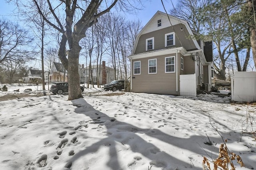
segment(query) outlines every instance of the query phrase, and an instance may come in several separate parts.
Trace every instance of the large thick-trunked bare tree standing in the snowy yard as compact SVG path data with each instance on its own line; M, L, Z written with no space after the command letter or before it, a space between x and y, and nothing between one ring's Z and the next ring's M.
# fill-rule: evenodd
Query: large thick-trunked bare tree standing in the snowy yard
M80 40L85 37L86 30L94 25L100 16L109 12L117 2L123 8L128 9L131 7L130 4L132 4L133 1L92 0L89 2L82 0L61 0L58 1L60 2L58 4L56 1L51 3L50 0L47 0L48 8L50 10L50 15L48 16L45 16L42 12L42 7L38 4L38 0L33 0L33 2L37 6L38 12L43 16L44 20L54 29L57 29L62 33L59 57L60 61L64 64L65 68L67 68L69 73L68 81L70 86L68 89L68 100L82 98L78 72L79 55L81 51L81 47L79 45ZM63 8L65 11L62 10ZM64 24L61 22L60 18L58 18L58 16L60 16L58 12L65 12L66 19ZM67 43L69 49L66 51ZM66 54L68 55L68 58L66 57Z

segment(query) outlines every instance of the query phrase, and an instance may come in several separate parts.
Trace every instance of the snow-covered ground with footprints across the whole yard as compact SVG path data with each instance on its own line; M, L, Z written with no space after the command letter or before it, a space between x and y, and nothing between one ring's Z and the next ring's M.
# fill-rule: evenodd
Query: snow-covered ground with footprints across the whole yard
M31 95L41 92L33 86L10 86L0 96L31 87ZM18 88L20 92L13 92ZM256 141L241 133L255 131L256 106L230 104L228 96L208 94L92 88L83 96L67 101L65 94L48 93L0 102L1 169L148 170L152 165L151 170L201 170L203 156L218 157L222 137L246 166L233 161L236 170L256 169ZM252 125L248 114L254 117Z

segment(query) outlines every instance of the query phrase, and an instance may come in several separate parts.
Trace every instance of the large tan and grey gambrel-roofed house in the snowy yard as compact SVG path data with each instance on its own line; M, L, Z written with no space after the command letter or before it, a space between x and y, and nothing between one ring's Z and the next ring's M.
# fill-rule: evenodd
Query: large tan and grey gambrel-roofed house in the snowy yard
M128 57L131 92L196 96L209 91L212 80L212 41L196 39L188 22L156 14L137 35Z

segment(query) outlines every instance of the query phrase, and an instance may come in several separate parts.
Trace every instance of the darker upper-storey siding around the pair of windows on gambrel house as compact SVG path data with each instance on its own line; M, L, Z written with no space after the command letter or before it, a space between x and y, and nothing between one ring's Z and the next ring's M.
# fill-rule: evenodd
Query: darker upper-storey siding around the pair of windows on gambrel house
M181 27L183 30L180 30ZM165 34L175 32L175 45L164 47L165 46ZM186 29L186 26L183 24L174 25L173 27L166 27L150 33L146 33L140 36L138 44L136 46L134 54L140 54L148 52L146 51L146 39L154 37L154 50L168 49L174 47L184 47L187 51L196 49L196 46L193 40ZM180 43L181 42L181 43Z

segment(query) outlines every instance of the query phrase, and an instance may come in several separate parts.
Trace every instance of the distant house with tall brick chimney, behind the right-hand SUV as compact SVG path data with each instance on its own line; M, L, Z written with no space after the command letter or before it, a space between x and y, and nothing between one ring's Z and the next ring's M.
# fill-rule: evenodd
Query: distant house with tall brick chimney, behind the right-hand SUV
M106 66L105 61L102 61L102 64L98 65L98 68L100 69L98 70L98 72L100 72L99 84L108 84L114 80L114 69ZM87 83L88 80L93 84L97 84L97 65L92 65L92 80L91 77L89 78L89 66L84 67L84 64L82 64L82 67L79 68L79 74L81 84Z

